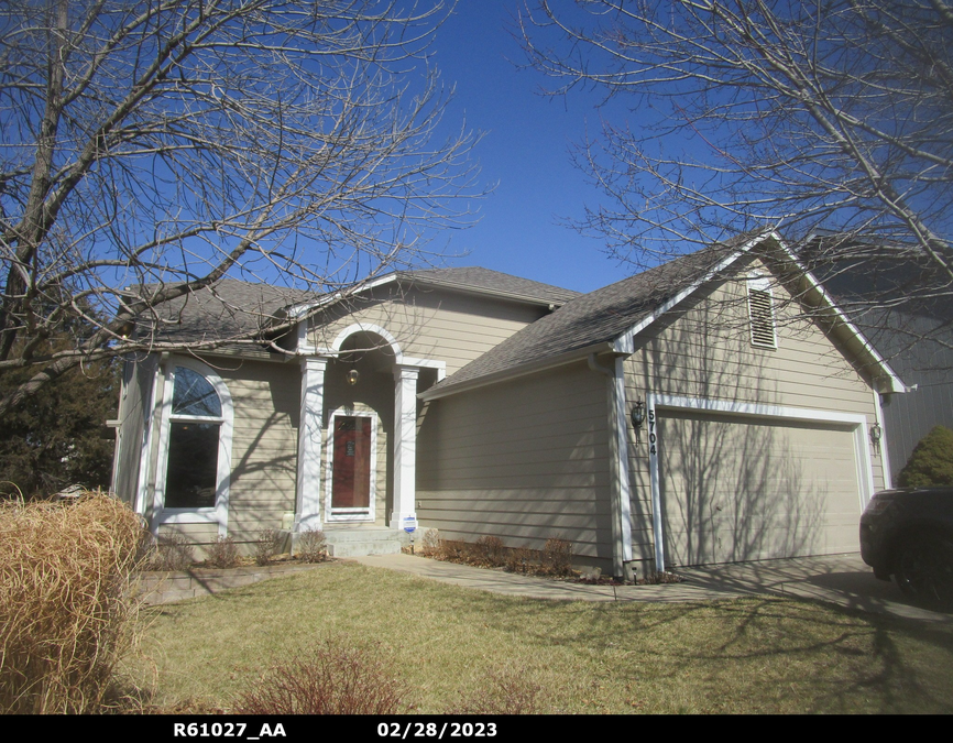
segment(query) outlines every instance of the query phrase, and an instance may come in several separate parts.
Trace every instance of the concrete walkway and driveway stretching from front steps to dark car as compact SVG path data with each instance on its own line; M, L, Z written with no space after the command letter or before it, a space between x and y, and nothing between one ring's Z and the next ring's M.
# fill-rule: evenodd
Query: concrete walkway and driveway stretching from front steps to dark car
M705 568L679 568L681 583L585 586L502 570L472 568L410 555L350 558L362 565L410 572L445 583L532 599L572 601L712 601L773 593L817 599L841 607L903 619L951 623L953 616L905 603L899 589L874 578L859 555L765 560Z

